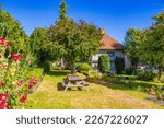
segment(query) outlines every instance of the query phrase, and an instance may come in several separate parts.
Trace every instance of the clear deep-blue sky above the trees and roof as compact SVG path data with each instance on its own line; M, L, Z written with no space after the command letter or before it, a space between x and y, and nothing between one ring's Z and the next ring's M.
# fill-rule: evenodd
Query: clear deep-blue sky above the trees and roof
M50 26L57 20L60 0L0 0L30 35L35 27ZM153 15L164 9L164 0L66 0L68 16L104 27L124 42L129 27L149 27Z

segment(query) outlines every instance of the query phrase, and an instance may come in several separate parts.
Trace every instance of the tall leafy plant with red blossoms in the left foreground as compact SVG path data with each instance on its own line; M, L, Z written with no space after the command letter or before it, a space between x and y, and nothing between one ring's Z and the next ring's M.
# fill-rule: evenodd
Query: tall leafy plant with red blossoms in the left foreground
M10 43L0 37L0 109L15 108L25 103L27 90L36 81L26 77L30 59L21 53L8 55Z

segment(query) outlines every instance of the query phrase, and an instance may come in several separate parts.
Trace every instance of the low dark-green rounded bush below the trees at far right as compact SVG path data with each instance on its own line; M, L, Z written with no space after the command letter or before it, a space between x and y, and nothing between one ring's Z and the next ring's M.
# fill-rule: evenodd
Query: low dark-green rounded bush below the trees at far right
M156 73L152 70L138 72L138 80L152 81L156 77Z

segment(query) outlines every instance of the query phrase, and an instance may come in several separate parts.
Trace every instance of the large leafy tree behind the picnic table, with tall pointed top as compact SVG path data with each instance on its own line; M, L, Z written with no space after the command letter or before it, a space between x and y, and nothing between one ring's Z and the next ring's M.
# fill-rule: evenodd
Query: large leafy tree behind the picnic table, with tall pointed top
M96 54L101 46L102 34L93 24L82 20L77 23L73 19L67 18L63 2L60 4L59 19L48 31L49 48L56 57L67 60L71 72L74 73L77 61L86 61Z

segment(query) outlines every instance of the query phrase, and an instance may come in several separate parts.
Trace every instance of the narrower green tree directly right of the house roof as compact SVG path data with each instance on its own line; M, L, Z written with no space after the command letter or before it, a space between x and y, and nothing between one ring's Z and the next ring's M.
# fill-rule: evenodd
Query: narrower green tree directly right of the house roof
M125 37L125 53L131 62L132 70L137 71L137 65L139 62L142 31L136 28L129 28L126 32Z

